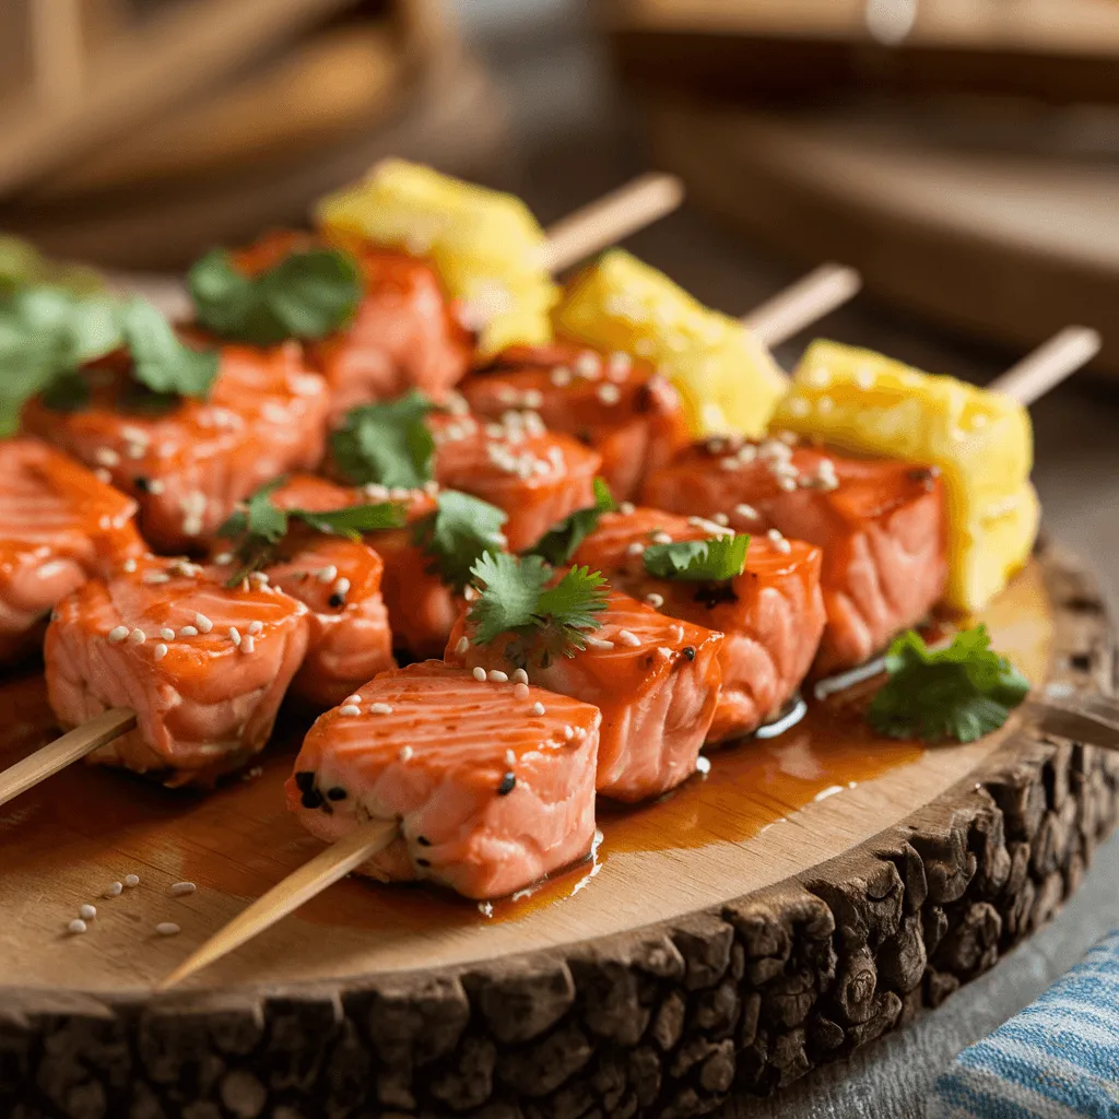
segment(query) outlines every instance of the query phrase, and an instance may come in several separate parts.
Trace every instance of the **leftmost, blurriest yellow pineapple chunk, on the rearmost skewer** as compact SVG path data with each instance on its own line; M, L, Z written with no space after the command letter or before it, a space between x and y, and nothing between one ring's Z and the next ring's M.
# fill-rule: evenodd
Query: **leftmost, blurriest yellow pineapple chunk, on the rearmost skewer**
M321 199L314 217L328 234L429 258L479 330L483 357L552 340L560 290L544 266L544 231L519 198L388 159L363 182Z

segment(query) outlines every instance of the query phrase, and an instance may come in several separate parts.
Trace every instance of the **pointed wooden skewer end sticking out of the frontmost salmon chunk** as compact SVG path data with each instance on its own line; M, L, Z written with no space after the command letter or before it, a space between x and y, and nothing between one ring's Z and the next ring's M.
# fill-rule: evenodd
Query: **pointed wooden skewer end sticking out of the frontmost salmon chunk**
M399 834L395 820L369 820L289 874L190 953L157 990L167 990L270 929L327 886L384 850Z

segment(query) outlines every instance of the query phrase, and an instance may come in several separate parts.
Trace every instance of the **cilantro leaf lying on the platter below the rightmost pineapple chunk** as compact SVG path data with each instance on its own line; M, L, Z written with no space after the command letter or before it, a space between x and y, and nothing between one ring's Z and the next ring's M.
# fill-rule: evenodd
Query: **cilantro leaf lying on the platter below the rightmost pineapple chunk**
M892 739L974 742L997 731L1029 692L1029 681L991 650L984 624L938 652L909 630L890 646L886 671L867 718Z

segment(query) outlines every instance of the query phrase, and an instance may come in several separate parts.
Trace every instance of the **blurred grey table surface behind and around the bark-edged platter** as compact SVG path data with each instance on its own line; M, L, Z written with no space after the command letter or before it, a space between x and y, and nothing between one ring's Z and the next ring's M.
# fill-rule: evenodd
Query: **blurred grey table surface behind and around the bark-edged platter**
M520 194L546 223L648 167L637 106L613 88L577 0L458 0L468 35L506 94L510 159L489 176ZM705 303L743 313L802 269L761 254L687 206L628 247ZM834 314L819 333L884 350L937 373L984 383L1018 355L944 335L869 299ZM779 350L788 367L807 342ZM1119 590L1119 391L1085 377L1034 408L1046 530L1087 557L1108 599ZM963 1046L1040 995L1119 925L1119 836L1099 852L1081 890L1046 929L935 1013L818 1070L772 1100L741 1100L723 1119L875 1119L923 1116L935 1075Z

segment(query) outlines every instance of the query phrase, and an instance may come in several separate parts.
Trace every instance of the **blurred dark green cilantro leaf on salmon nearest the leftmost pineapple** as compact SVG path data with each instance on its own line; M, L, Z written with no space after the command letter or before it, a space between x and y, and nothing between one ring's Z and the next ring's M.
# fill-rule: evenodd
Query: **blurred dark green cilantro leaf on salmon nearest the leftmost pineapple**
M291 253L255 276L215 248L194 264L188 283L201 326L253 346L325 338L352 319L363 292L357 263L332 248Z

